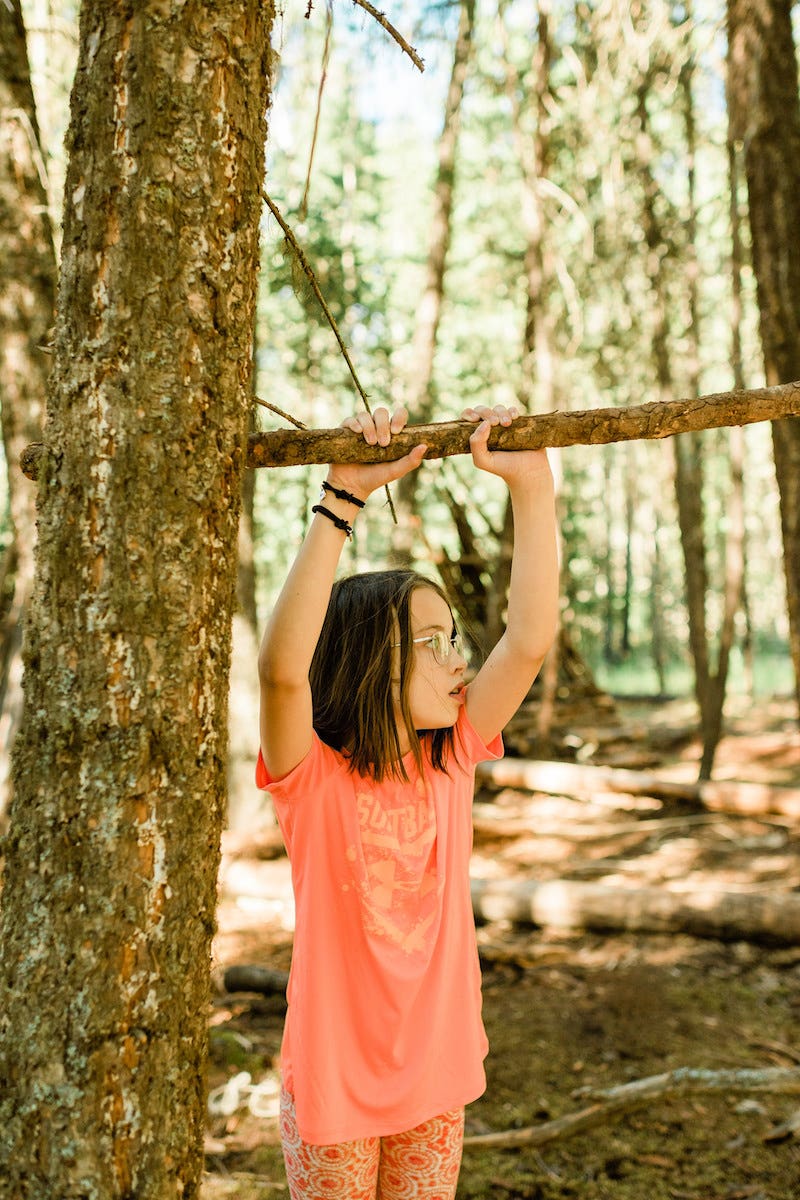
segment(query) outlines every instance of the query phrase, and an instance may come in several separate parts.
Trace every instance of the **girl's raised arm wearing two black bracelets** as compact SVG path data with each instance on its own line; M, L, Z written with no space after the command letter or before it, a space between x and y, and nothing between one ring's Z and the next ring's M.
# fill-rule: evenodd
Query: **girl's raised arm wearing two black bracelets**
M375 409L371 416L360 413L343 427L361 433L371 445L389 445L399 433L408 413L398 408L390 414ZM345 463L331 466L326 482L356 500L366 500L377 488L420 466L425 445L396 462ZM266 769L273 779L288 774L311 748L312 701L308 684L311 661L327 611L347 526L360 509L351 499L326 491L297 552L264 631L258 655L260 683L260 743Z

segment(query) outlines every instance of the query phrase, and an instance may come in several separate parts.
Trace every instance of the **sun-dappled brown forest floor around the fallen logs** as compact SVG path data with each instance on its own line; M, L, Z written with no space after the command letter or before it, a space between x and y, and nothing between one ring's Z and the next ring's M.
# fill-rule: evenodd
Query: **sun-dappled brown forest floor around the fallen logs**
M691 708L676 701L657 708L618 702L602 718L604 733L594 727L596 713L584 712L583 722L579 713L569 714L569 748L593 763L691 780L699 754L684 732L691 720ZM800 786L800 734L788 702L734 708L729 726L715 778ZM509 790L477 799L530 804L528 794ZM492 840L476 834L475 874L800 892L798 821L723 812L697 820L697 808L682 823L673 818L690 815L685 804L626 796L534 803L549 832ZM662 829L658 817L669 818ZM595 836L587 833L593 821ZM648 822L640 833L631 829L638 821ZM581 836L571 835L571 823ZM276 1120L282 1001L225 994L221 984L224 968L236 964L288 970L288 863L240 851L223 859L221 878L209 1080L218 1111L209 1117L203 1200L288 1196ZM481 925L479 943L491 1051L487 1091L467 1110L468 1135L539 1126L585 1108L582 1088L673 1068L800 1063L800 946L503 923ZM651 1099L569 1140L467 1147L458 1196L794 1200L800 1132L771 1133L799 1110L796 1094Z

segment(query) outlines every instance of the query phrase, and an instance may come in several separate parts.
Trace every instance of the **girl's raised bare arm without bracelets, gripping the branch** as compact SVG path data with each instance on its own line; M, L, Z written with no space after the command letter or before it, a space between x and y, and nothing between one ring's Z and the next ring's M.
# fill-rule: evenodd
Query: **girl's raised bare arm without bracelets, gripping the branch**
M491 451L493 425L511 425L515 410L468 408L480 420L470 438L473 461L505 480L513 512L513 558L506 629L467 690L467 712L487 742L511 720L539 674L558 628L559 568L553 475L543 450Z

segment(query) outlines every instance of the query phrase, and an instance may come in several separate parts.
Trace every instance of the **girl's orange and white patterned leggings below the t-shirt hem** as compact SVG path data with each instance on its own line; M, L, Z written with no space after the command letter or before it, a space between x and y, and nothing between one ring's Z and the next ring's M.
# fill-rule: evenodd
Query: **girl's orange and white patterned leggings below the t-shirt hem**
M464 1110L457 1109L390 1138L309 1146L291 1096L281 1096L290 1200L453 1200L463 1139Z

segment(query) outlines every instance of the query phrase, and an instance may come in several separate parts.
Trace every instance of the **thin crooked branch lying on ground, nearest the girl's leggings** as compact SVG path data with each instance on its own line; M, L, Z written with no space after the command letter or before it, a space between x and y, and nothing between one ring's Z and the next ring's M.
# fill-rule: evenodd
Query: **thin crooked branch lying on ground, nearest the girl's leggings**
M555 1121L547 1121L527 1129L506 1129L464 1138L469 1150L510 1150L513 1146L543 1146L558 1139L576 1138L614 1117L643 1108L652 1100L704 1092L770 1092L782 1096L800 1094L800 1067L768 1067L763 1070L694 1070L680 1067L650 1075L631 1084L591 1091L589 1108Z

